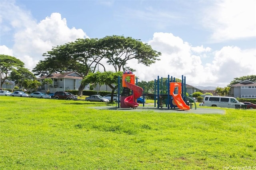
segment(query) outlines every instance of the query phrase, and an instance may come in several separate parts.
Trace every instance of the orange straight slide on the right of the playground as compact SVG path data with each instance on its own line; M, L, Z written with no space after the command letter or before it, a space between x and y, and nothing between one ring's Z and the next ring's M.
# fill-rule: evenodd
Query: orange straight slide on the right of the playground
M174 89L175 87L178 86L178 94L174 94ZM184 100L182 99L181 96L181 83L176 83L176 82L170 82L170 95L172 95L173 100L176 104L176 106L179 107L179 109L182 110L189 110L189 106L186 105L186 103L184 102Z

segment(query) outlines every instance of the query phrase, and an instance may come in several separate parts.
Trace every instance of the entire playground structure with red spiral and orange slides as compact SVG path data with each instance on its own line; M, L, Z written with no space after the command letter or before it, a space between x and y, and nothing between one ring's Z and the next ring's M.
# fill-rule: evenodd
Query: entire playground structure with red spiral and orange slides
M135 75L126 70L122 76L122 87L120 86L120 77L118 78L118 95L120 95L120 88L122 88L122 94L120 101L118 101L118 108L130 108L135 109L139 106L136 99L142 96L154 97L154 107L162 108L167 107L168 109L179 108L182 110L192 109L194 103L195 109L196 104L194 100L186 96L186 77L182 75L182 82L176 82L175 78L170 78L168 75L167 80L159 78L154 83L138 83ZM188 99L188 100L186 100ZM144 107L144 103L143 103Z

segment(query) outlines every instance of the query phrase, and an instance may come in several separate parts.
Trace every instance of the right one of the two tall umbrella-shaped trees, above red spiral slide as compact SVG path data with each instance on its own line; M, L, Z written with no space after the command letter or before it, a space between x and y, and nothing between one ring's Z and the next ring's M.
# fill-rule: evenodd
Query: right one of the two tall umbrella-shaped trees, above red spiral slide
M118 35L106 36L99 40L102 55L107 58L107 63L114 66L117 71L124 71L128 60L137 60L138 63L149 66L159 60L161 55L146 43L132 37Z

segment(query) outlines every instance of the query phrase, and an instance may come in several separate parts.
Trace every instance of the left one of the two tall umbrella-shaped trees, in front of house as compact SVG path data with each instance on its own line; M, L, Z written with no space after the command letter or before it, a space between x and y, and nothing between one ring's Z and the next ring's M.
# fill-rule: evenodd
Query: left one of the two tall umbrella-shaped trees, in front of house
M44 53L47 57L40 61L32 70L36 75L44 76L50 73L76 71L83 78L94 72L103 59L102 52L99 52L98 39L77 39L64 45L53 47L52 51ZM105 68L104 68L105 70ZM78 88L78 95L86 85L81 84Z

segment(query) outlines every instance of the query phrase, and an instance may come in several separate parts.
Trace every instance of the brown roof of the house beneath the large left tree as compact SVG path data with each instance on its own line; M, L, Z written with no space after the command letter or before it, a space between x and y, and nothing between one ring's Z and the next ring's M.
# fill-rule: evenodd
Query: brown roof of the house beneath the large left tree
M80 79L80 80L83 79L82 76L77 72L51 73L51 74L48 74L47 76L42 76L37 79L40 80L40 79L46 79L46 78L69 78L69 79Z

